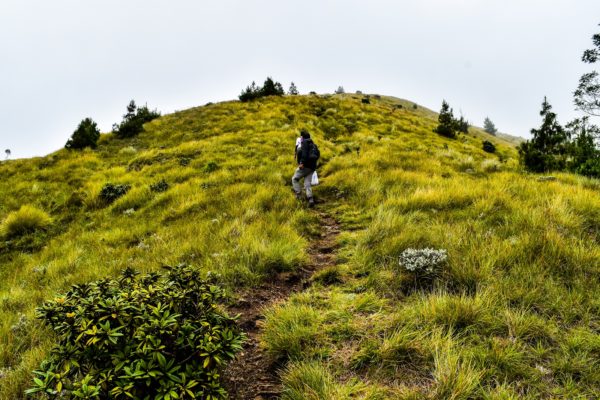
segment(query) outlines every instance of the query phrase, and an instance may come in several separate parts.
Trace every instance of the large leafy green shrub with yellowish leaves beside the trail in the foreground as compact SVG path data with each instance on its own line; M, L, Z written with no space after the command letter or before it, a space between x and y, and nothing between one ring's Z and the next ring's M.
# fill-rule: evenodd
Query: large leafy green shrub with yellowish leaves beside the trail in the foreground
M75 285L37 309L57 335L28 394L68 398L224 398L220 371L244 339L218 286L179 265ZM151 397L149 397L151 395Z

